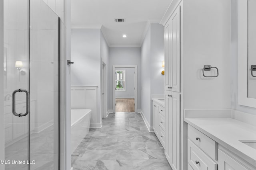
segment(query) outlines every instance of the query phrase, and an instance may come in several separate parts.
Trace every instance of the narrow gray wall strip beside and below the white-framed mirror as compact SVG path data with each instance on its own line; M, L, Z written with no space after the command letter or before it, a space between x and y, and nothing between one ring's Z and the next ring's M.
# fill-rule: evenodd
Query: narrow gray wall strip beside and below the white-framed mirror
M238 104L238 0L231 1L231 107L256 115L256 108Z

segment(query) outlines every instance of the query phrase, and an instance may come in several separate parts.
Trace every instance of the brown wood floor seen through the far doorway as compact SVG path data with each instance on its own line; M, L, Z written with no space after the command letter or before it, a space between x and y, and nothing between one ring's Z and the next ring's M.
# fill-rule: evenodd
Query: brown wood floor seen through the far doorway
M116 99L116 112L135 112L134 99Z

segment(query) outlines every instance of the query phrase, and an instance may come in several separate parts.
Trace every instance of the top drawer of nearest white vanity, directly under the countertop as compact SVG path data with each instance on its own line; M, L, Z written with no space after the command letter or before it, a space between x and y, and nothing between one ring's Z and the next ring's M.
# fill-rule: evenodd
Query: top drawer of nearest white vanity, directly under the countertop
M217 143L214 140L190 125L188 125L188 139L194 142L212 159L217 160Z

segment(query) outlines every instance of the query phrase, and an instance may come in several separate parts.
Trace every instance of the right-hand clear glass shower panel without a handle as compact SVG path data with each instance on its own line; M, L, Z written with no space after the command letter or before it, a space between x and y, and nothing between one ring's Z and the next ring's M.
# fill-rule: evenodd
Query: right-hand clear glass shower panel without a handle
M30 0L30 170L58 170L59 18Z

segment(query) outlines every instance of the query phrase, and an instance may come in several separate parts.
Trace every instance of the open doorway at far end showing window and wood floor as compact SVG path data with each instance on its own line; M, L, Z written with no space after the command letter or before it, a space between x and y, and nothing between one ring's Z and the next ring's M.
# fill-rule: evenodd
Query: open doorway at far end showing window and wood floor
M137 112L137 66L113 66L114 112Z

